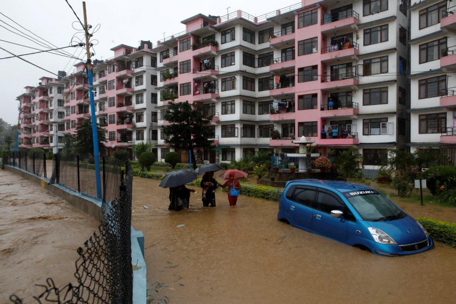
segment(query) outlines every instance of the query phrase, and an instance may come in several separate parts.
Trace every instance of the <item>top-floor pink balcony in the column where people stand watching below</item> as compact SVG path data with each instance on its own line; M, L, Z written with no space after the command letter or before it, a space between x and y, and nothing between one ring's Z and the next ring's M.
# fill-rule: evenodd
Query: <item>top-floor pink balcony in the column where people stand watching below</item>
M321 32L346 32L349 30L359 31L359 23L359 14L355 11L324 14Z

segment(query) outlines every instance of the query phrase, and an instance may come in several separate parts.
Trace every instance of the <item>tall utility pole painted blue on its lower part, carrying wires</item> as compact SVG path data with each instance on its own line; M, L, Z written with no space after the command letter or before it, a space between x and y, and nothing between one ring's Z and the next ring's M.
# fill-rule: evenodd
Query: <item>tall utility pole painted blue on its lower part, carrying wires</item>
M95 158L95 181L97 184L97 198L101 199L101 176L100 176L100 153L98 151L98 132L97 119L95 117L95 101L93 97L93 79L92 79L92 60L90 60L90 44L89 30L87 27L86 2L83 1L84 9L84 32L86 34L86 50L87 50L87 72L89 78L89 96L90 96L90 111L92 116L92 137L93 137L93 156Z

